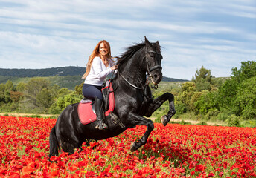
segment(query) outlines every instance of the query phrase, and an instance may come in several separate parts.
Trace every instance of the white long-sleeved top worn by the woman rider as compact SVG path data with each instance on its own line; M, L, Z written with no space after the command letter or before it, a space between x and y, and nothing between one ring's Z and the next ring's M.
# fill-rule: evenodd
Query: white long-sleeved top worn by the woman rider
M106 76L112 72L112 66L116 65L112 60L109 61L109 66L106 67L100 57L95 57L92 61L91 70L86 77L84 83L89 85L101 86L106 79Z

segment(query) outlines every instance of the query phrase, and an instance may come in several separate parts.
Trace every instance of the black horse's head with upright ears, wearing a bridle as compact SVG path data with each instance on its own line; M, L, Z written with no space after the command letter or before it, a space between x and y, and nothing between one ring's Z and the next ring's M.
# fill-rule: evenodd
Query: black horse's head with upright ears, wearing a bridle
M161 47L159 41L150 43L145 36L145 54L147 63L147 73L151 78L151 82L157 85L162 79L161 73Z

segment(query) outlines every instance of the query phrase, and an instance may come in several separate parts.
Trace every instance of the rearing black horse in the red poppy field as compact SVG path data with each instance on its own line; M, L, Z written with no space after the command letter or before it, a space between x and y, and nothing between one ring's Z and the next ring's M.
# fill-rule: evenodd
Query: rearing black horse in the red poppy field
M78 103L69 105L60 113L56 125L51 129L49 157L58 156L60 148L73 154L74 148L81 148L83 142L87 140L117 136L127 128L133 128L136 125L146 125L147 131L138 142L133 142L130 150L135 151L145 145L148 136L153 131L154 124L152 120L143 116L150 117L167 100L170 108L167 115L161 116L162 124L167 125L175 114L173 94L164 93L153 99L150 87L147 85L153 82L156 86L161 81L161 59L159 42L150 43L146 36L144 42L128 47L127 51L118 57L118 73L112 79L115 89L113 113L124 127L113 123L111 117L105 120L109 126L108 130L95 129L96 122L83 125L78 118Z

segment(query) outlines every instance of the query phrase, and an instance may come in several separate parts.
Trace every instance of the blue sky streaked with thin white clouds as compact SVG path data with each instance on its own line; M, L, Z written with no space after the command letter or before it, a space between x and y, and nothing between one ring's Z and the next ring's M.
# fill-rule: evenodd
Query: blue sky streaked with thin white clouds
M163 76L215 77L256 61L255 0L0 0L0 68L85 67L105 39L112 56L159 41Z

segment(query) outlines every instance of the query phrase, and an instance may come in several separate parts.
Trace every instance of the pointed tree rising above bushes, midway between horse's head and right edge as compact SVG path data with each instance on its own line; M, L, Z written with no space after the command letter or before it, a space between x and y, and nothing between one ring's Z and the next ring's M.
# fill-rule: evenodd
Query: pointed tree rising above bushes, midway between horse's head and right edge
M211 70L205 69L203 66L200 70L196 70L195 77L192 78L192 82L196 84L196 90L211 90L213 83L211 81Z

